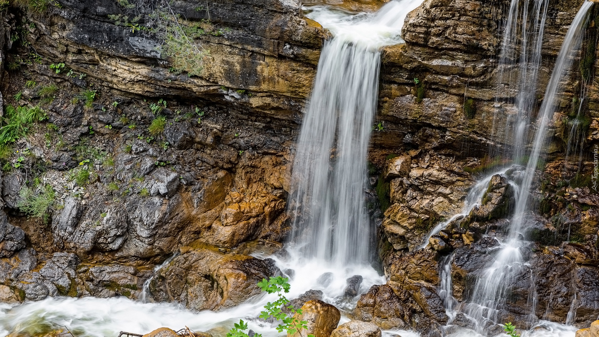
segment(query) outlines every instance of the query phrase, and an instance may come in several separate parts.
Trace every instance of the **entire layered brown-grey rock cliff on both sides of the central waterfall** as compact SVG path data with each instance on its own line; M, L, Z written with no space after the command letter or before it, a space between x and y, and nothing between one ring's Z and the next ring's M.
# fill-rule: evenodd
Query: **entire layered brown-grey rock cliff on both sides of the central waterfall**
M552 2L539 100L581 3ZM116 25L114 16L128 13L125 2L57 4L0 11L6 69L0 103L4 97L5 106L40 104L47 114L47 121L27 126L28 137L2 150L2 300L137 298L155 264L176 252L150 282L152 299L193 309L247 299L256 279L279 272L249 254L280 249L289 230L289 163L327 32L302 18L293 0L177 1L181 24L196 28L205 50L198 76L187 76L174 69L177 60L156 35ZM381 4L343 2L354 10ZM379 176L372 189L384 213L379 250L389 282L361 296L360 320L382 329L436 329L447 323L438 295L441 257L454 254L458 299L492 260L497 241L483 234L502 235L513 203L501 177L492 180L485 205L461 222L467 225L449 224L428 248L415 248L439 221L459 213L468 188L500 163L486 156L488 149L510 149L506 130L492 121L495 112L515 111L515 93L496 90L508 7L425 0L406 20L406 44L383 51L377 116L383 128L373 131L370 161ZM520 295L533 285L537 317L564 321L574 293L580 324L597 315L592 164L584 157L578 170L563 155L562 121L580 76L573 78L536 186L540 212L530 219L536 243L526 252L533 276L510 285L506 321L526 314ZM588 95L586 149L599 137L596 82ZM562 244L568 235L570 243ZM544 312L548 305L553 311Z

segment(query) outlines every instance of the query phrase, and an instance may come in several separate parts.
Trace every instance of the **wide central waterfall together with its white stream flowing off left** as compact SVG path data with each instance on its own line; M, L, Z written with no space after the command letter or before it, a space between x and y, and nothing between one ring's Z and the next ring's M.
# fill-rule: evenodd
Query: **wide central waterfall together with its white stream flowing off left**
M386 281L370 265L372 224L364 204L379 49L403 42L400 36L404 19L421 3L393 0L378 13L355 15L316 6L306 14L328 28L334 38L323 46L298 141L293 173L297 189L291 206L296 213L294 241L287 247L288 258L273 257L280 270L293 269L295 275L301 275L291 278L288 298L310 289L322 290L325 302L352 309L358 297L344 296L346 278L362 276L359 293ZM147 295L149 281L146 285ZM100 337L116 336L120 330L148 332L160 326L188 326L220 336L243 318L250 329L263 336L278 336L273 324L258 320L264 305L274 300L276 294L262 294L235 308L190 312L171 303L143 303L147 302L145 295L140 302L124 297L48 298L13 308L6 305L0 314L0 327L16 332L25 331L31 322L49 326L57 323L68 325L80 336ZM127 312L126 318L123 312ZM341 323L347 320L342 317Z

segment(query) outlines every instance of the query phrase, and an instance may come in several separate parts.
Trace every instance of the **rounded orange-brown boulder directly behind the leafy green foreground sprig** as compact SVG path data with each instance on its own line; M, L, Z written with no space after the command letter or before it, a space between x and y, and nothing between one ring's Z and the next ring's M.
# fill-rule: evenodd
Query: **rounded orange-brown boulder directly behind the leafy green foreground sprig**
M307 333L304 331L298 331L293 335L288 333L288 337L301 337L307 334L314 335L314 337L329 337L341 319L339 309L321 300L305 302L301 309L302 314L295 314L294 318L308 322Z

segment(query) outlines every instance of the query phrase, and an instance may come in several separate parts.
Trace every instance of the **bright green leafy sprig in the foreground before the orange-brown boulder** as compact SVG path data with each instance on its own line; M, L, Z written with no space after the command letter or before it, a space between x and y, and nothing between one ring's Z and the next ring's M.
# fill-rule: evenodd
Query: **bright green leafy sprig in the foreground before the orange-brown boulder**
M291 287L288 283L288 278L283 278L282 276L271 277L270 279L263 278L262 281L258 282L258 287L262 288L262 291L266 291L269 294L277 293L279 299L274 302L268 302L267 305L264 306L265 311L260 313L260 318L264 320L268 320L270 318L275 318L276 320L282 321L282 324L277 326L278 332L283 332L285 330L288 335L293 335L296 332L299 332L301 335L302 329L307 329L308 322L300 321L296 317L295 314L301 315L302 309L295 309L293 305L289 305L289 300L283 295L282 292L289 293L289 288ZM283 306L289 309L289 314L282 310ZM247 329L247 323L244 323L243 320L239 321L239 324L235 324L234 328L227 333L227 337L248 337L247 333L244 330ZM261 337L258 333L254 335L254 337ZM314 337L314 335L308 334L307 337Z

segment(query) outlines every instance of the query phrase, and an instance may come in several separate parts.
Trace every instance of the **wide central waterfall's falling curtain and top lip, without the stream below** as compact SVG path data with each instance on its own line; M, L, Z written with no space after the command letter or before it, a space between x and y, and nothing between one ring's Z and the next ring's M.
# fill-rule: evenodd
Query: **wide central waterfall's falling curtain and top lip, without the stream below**
M367 152L379 89L380 47L422 1L391 1L376 14L313 8L307 16L334 34L323 45L292 171L291 242L332 264L368 264L373 224L365 207Z

